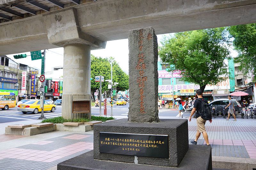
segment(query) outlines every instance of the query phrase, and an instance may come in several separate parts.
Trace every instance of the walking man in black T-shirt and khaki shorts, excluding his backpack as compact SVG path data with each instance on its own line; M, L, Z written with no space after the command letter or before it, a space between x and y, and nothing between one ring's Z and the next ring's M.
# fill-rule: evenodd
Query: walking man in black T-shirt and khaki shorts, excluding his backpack
M191 118L192 116L194 115L194 113L196 112L196 125L197 125L197 128L196 128L196 138L195 140L192 140L190 141L190 143L192 144L197 144L197 140L198 138L200 137L201 133L203 134L203 137L204 137L204 140L205 140L205 143L206 145L210 145L209 143L209 140L208 140L208 135L206 133L206 130L205 130L205 123L206 123L206 120L204 120L201 115L200 115L200 109L202 107L202 101L204 101L204 98L203 98L203 91L201 89L198 89L196 91L196 95L197 95L197 98L194 102L194 107L191 111L191 114L188 118L189 122L191 121ZM212 123L212 119L209 120L210 123Z

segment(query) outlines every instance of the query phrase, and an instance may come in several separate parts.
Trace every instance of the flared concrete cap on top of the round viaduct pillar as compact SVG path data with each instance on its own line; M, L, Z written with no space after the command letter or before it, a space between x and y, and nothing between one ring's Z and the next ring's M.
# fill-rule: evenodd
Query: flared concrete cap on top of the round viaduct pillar
M91 49L106 47L101 41L80 30L75 8L44 15L49 43L64 47L67 44L85 44Z

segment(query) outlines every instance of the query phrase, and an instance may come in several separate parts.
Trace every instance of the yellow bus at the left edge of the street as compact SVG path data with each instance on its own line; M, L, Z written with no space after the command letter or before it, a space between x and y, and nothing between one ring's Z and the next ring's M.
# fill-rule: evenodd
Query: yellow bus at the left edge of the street
M0 108L8 110L10 107L16 106L15 94L11 92L0 92Z

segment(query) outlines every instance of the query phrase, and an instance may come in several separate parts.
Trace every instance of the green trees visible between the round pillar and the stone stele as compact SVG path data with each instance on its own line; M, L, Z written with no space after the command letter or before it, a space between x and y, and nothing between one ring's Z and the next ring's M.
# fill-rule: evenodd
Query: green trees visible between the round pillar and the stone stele
M101 57L95 57L91 55L91 95L93 101L94 95L93 93L100 89L100 82L95 82L95 76L104 76L104 79L111 79L111 65L110 65L110 59L113 60L112 66L113 66L113 83L118 82L117 85L117 92L118 91L124 91L129 89L129 76L120 68L118 63L114 60L114 58L101 58ZM107 91L107 96L110 94L110 90L108 89L108 82L104 81L101 83L102 92Z

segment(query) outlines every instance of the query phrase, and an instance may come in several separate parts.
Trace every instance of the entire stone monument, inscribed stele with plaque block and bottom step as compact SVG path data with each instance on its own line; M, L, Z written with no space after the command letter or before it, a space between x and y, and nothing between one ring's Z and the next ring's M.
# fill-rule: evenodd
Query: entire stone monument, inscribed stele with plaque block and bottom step
M128 39L128 119L94 125L94 150L58 169L212 169L211 147L188 145L187 119L159 120L154 29L130 30Z

